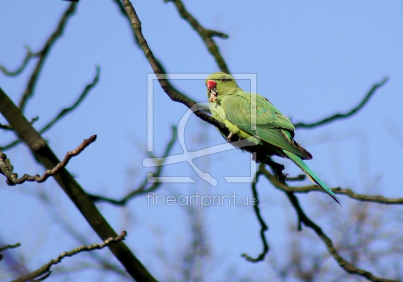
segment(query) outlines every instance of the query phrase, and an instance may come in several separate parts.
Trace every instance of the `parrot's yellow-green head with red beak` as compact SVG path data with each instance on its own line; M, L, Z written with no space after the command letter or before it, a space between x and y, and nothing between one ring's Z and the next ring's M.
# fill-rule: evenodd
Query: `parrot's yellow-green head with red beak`
M225 73L215 73L206 79L207 97L210 102L217 100L217 97L230 95L236 89L237 85L233 77Z

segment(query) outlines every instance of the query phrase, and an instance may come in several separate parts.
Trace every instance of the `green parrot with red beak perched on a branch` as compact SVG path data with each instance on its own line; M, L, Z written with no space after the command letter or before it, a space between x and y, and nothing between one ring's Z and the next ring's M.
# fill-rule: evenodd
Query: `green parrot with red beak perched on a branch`
M251 136L260 137L258 145L240 149L256 153L256 162L273 163L270 159L273 155L290 159L340 204L329 187L304 163L303 160L312 159L312 155L295 142L294 125L266 98L244 92L237 86L234 78L225 73L210 75L206 86L213 117L224 122L230 132L228 136L224 136L228 142ZM251 97L256 97L255 130L251 127Z

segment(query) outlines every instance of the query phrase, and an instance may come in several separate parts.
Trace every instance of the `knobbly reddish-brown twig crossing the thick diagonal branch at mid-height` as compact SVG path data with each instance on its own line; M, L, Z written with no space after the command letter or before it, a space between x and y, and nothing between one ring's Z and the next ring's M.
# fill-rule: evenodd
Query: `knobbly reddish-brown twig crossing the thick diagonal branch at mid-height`
M7 184L10 186L22 184L25 181L37 183L45 182L49 176L53 176L58 173L60 169L64 168L69 163L71 158L83 152L84 149L87 148L91 143L95 142L96 139L97 135L92 135L90 138L85 139L76 150L68 152L63 161L58 163L53 169L46 170L42 176L39 176L39 174L34 176L25 174L23 177L18 178L18 174L13 173L13 166L11 165L10 160L7 158L6 154L3 154L3 152L0 151L0 173L7 177Z

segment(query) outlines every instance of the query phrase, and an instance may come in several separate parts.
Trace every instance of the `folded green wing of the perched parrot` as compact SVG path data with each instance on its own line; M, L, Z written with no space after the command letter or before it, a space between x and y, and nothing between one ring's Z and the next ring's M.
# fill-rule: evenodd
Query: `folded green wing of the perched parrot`
M256 94L256 131L251 130L250 99L251 94L243 91L222 97L220 102L227 119L243 131L257 135L269 144L302 158L311 159L305 150L295 145L293 140L295 128L291 121L266 98L258 94Z

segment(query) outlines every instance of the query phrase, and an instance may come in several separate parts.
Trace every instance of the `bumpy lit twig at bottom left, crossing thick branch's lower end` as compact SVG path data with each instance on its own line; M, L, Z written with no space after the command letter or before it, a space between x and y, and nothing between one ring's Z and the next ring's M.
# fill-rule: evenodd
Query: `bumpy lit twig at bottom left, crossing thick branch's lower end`
M49 261L48 263L46 263L45 265L43 265L41 268L35 270L34 272L18 278L12 282L25 282L25 281L43 281L44 279L46 279L47 277L50 276L50 274L52 273L52 271L50 270L50 268L61 262L61 260L65 257L72 257L74 255L77 255L81 252L90 252L93 250L101 250L103 248L105 248L106 246L109 246L110 244L114 244L114 243L118 243L122 240L124 240L124 238L127 236L127 232L126 231L122 231L122 233L115 237L115 238L109 238L106 239L102 244L93 244L90 246L80 246L72 251L69 252L63 252L61 253L56 259L52 259L51 261Z

